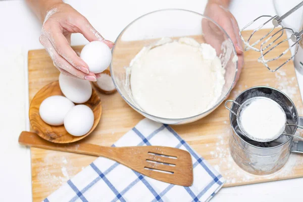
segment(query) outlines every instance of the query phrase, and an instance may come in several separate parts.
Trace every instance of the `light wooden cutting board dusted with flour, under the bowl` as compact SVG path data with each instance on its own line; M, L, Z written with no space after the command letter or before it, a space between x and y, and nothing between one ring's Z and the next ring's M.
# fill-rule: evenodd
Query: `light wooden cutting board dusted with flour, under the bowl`
M268 30L259 31L256 37L261 38L265 32ZM245 31L243 35L249 33L249 31ZM287 43L281 44L275 49L275 52L282 53L287 45ZM76 52L80 52L81 48L82 46L74 47ZM128 51L130 50L128 49ZM254 51L245 52L245 64L240 80L229 98L235 98L241 91L252 86L272 86L290 96L299 114L303 115L303 105L293 63L289 62L280 71L272 73L257 62L259 54ZM289 57L288 52L274 63L275 65L281 64ZM35 93L44 85L58 80L58 75L58 70L43 49L29 51L29 100L31 101ZM89 143L110 146L143 119L143 116L130 108L119 93L99 95L103 107L102 118L95 131L85 140ZM280 171L272 175L256 176L241 170L233 162L229 153L228 141L231 129L228 115L229 112L222 104L204 119L187 125L172 126L197 153L227 179L225 187L303 176L303 155L295 154L291 155L287 164ZM33 201L43 200L95 159L95 157L85 155L31 148Z

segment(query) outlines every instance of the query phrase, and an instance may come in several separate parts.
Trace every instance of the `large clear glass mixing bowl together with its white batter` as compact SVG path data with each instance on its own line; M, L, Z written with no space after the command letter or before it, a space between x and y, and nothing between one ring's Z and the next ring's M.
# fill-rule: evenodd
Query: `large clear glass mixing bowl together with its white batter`
M118 36L110 65L122 98L143 116L185 124L214 111L237 73L234 45L211 19L186 10L146 14Z

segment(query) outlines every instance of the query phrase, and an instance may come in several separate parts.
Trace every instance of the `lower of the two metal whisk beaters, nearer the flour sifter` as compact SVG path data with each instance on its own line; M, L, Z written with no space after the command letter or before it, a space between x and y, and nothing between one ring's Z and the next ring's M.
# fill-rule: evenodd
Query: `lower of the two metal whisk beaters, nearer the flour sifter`
M291 31L291 33L292 33L291 36L286 38L286 39L283 39L281 41L278 41L278 39L283 35L284 30ZM280 32L282 33L281 35L279 35ZM272 38L275 37L275 35L278 35L278 37L276 39L274 39L272 42L268 43ZM288 58L284 63L282 63L278 67L272 69L272 68L269 67L268 62L275 61L275 60L281 58L283 55L285 55L289 51L289 49L291 49L293 46L295 46L297 43L299 43L299 41L301 40L302 35L303 35L303 30L301 30L300 32L294 32L292 29L287 28L287 27L284 27L284 28L280 29L279 31L277 31L276 33L274 33L272 36L268 37L265 41L263 41L261 43L261 46L260 46L261 57L258 59L258 62L263 63L265 65L265 67L267 67L267 69L269 69L271 72L277 71L278 69L280 69L283 65L285 65L288 61L290 61L296 55L296 53L298 52L298 47L299 46L297 45L296 48L295 48L295 51L291 55L291 57ZM269 54L275 47L277 47L278 45L280 45L283 42L288 43L289 41L291 41L292 44L288 48L286 48L286 50L283 51L283 53L281 53L278 56L273 56L272 58L269 57L270 59L265 59L266 55ZM267 44L267 45L265 45L265 44ZM269 47L270 47L270 49L267 50L267 48L269 48Z

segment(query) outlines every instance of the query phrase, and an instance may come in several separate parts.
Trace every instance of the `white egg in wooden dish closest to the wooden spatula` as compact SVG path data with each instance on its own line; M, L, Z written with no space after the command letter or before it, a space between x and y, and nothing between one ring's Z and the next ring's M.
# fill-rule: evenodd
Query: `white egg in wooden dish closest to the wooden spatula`
M92 110L86 105L76 105L64 118L64 127L74 136L85 135L90 131L94 121Z

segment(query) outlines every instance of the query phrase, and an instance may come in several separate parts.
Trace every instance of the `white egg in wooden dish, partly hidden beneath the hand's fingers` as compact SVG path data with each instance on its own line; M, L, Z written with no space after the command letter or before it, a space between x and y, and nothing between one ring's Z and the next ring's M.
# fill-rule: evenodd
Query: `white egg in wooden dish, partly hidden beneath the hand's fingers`
M63 94L73 103L85 103L91 96L92 88L89 81L60 74L59 85Z

